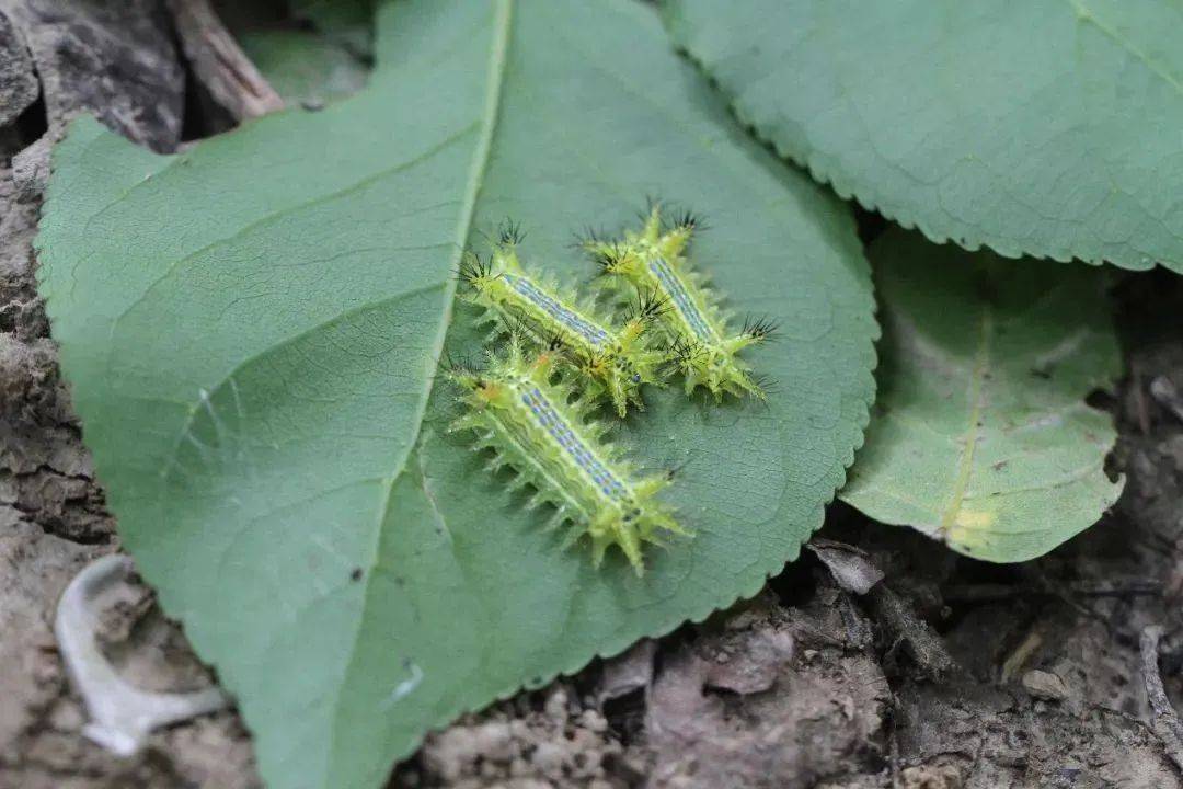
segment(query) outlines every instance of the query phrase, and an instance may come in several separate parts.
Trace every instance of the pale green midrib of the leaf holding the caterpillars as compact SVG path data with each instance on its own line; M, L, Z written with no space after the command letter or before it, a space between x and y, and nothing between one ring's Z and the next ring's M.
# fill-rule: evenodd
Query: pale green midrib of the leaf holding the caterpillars
M455 253L450 265L450 270L458 267L460 258L464 254L465 246L468 240L468 235L472 232L473 215L476 214L477 200L480 196L480 189L484 185L485 174L489 169L489 157L492 150L493 135L497 128L497 119L500 114L502 106L502 90L505 83L505 64L506 53L509 51L510 41L510 27L512 21L513 0L496 0L496 9L493 12L493 31L492 41L489 54L489 82L485 88L485 105L481 111L480 124L481 131L480 137L477 141L477 147L473 151L472 169L468 175L467 190L465 193L464 207L461 208L459 221L457 222L457 235L455 235ZM437 326L435 339L432 343L432 349L429 354L431 369L434 370L439 366L440 353L444 349L444 342L447 337L448 328L452 324L452 309L455 302L455 289L457 278L450 277L445 291L442 295L444 309L440 313L440 322ZM403 474L407 468L407 460L413 452L419 452L419 441L422 434L424 418L427 413L427 403L431 399L432 388L435 383L435 376L428 374L427 380L424 384L424 390L419 400L419 405L415 410L414 416L414 433L412 440L407 442L407 451L402 455L401 460L396 463L395 468L390 473L389 478L384 481L384 491L382 494L382 505L379 509L379 517L376 529L374 530L374 545L370 551L369 567L364 574L364 587L361 590L362 594L362 607L357 615L357 626L354 630L353 642L349 646L349 658L345 661L345 670L341 674L341 681L334 690L334 718L337 719L341 716L341 691L343 690L345 681L353 673L353 666L357 657L357 646L361 641L363 633L363 625L366 622L366 613L370 601L371 583L374 577L374 568L377 564L379 548L382 541L383 524L387 520L390 510L390 503L394 498L394 489L399 478ZM328 752L328 758L325 763L324 778L327 780L329 775L332 774L332 761L334 755L337 752L337 733L341 731L341 726L334 725L331 741ZM322 784L323 785L323 784Z

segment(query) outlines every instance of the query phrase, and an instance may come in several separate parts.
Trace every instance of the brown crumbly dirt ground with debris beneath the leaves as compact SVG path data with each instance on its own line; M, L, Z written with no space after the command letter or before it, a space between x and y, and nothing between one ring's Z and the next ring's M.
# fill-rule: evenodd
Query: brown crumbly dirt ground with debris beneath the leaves
M118 537L33 285L46 153L79 110L160 150L225 125L172 25L156 0L0 0L0 789L259 785L233 712L125 761L83 738L51 629ZM883 226L861 219L868 238ZM1183 279L1116 279L1129 376L1095 401L1127 484L1097 526L997 567L834 505L833 542L755 600L460 720L390 785L1183 787L1179 730L1146 690L1161 674L1183 701ZM146 687L203 681L147 589L102 635Z

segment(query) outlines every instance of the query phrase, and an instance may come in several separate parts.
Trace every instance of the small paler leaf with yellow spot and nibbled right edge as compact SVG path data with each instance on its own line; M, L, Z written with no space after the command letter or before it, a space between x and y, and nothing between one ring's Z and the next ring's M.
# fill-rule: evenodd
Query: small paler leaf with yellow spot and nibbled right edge
M1100 518L1117 439L1085 403L1120 374L1103 272L891 231L879 399L843 500L968 556L1019 562Z

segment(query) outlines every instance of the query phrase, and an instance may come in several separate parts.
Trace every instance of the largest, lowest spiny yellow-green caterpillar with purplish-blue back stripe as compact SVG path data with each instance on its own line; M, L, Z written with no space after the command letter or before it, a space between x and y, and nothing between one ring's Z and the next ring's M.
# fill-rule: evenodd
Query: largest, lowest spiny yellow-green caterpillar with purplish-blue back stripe
M596 567L615 544L641 575L644 543L660 544L662 531L685 533L655 498L670 477L634 477L632 465L602 440L607 428L587 421L587 399L571 402L569 384L551 383L556 362L550 350L528 360L515 334L509 353L490 355L486 370L450 370L470 407L451 432L474 431L474 448L497 453L490 471L509 465L517 472L511 487L532 485L531 507L543 502L557 507L551 528L564 522L575 526L568 544L587 532Z

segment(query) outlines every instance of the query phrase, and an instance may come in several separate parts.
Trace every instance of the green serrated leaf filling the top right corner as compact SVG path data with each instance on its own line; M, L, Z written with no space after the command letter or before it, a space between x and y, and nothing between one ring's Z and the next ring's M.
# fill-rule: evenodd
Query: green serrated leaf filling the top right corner
M933 240L1183 272L1183 6L672 0L739 116Z

